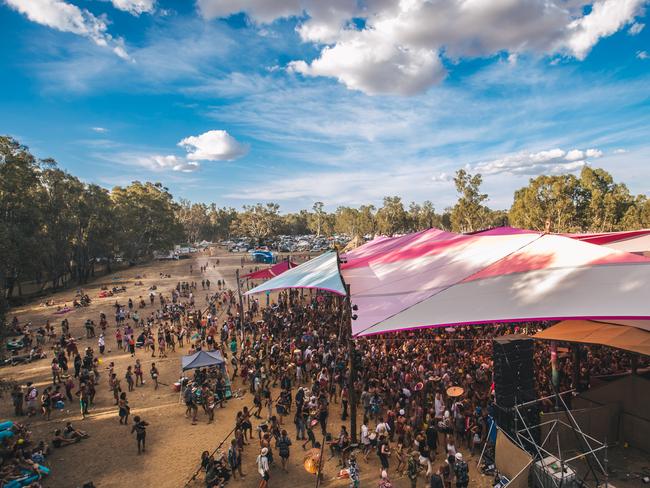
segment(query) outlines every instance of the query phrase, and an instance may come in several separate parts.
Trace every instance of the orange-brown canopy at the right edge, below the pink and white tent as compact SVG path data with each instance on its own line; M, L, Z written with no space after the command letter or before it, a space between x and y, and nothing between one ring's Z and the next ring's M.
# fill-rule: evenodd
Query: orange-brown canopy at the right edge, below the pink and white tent
M642 325L647 329L592 320L564 320L538 332L534 338L598 344L650 356L650 322Z

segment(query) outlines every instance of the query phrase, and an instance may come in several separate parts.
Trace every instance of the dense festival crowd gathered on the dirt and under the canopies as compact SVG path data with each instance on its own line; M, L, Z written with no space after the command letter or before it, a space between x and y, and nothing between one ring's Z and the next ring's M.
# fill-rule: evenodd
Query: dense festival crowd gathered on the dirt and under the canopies
M208 263L200 266L200 273L208 267ZM199 286L208 292L201 306L196 300ZM119 424L131 425L138 454L145 453L149 424L140 416L129 421L129 395L164 383L155 362L145 371L144 359L164 359L176 351L219 350L227 372L223 367L200 368L179 381L185 415L192 424L198 423L199 412L212 423L215 411L229 397L248 395L232 432L223 440L227 448L203 453L201 471L208 488L246 476L244 459L250 458L246 451L254 451L254 471L260 487L266 488L275 471L289 469L288 460L296 450L305 465L313 466L317 460L320 467L336 460L340 476L352 487L360 486L362 473L374 472L370 478L381 488L389 488L391 478L398 477L408 479L412 487L465 488L470 482L469 459L494 440L492 339L547 325L494 324L357 339L352 358L356 380L351 382L349 331L339 297L283 291L268 306L248 299L240 308L225 281L219 279L210 287L209 279L202 277L198 283L178 282L169 296L152 289L148 300L115 301L112 324L103 313L97 325L86 321L86 338L97 345L81 352L67 319L61 321L60 333L49 322L35 329L15 319L12 327L23 333L26 343L51 341L53 352L52 385L42 391L30 383L16 385L11 395L15 415L50 419L56 410L78 402L85 418L106 376L103 387L111 391ZM109 329L116 350L132 358L126 367L104 364L112 350ZM630 368L629 357L611 349L585 348L584 355L582 388L593 376ZM549 356L547 346L536 343L540 396L551 392ZM569 354L560 355L558 370L561 391L576 386ZM357 432L348 427L353 399ZM541 406L553 408L552 402ZM54 432L52 445L61 448L85 436L66 426ZM16 448L16 443L3 439L2 448L17 460L14 474L27 469L33 452L25 452L25 441Z

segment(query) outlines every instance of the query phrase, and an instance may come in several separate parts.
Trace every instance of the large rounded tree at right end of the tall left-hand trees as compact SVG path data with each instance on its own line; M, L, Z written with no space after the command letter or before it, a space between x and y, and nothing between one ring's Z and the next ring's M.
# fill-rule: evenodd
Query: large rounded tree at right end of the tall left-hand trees
M177 204L160 183L134 181L111 192L115 206L118 251L137 261L154 251L169 250L183 236Z

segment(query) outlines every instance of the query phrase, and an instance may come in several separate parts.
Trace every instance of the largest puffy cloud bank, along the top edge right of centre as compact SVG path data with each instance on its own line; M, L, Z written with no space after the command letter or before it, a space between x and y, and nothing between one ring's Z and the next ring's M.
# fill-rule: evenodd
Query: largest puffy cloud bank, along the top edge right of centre
M642 13L645 0L198 0L206 18L245 12L253 22L299 18L305 42L321 47L290 71L336 78L369 95L413 95L439 83L452 61L507 53L584 59L598 41ZM590 6L591 9L584 7ZM632 24L630 32L640 32Z

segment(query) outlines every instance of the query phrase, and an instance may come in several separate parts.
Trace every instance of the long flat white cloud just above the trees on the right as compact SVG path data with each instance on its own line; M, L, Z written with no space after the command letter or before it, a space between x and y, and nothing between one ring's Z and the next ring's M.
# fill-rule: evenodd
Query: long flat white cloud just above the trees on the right
M560 148L539 152L519 152L492 161L484 161L469 169L483 175L509 173L513 175L560 174L575 171L588 163L589 159L602 157L599 149Z

